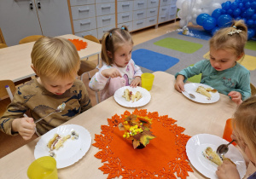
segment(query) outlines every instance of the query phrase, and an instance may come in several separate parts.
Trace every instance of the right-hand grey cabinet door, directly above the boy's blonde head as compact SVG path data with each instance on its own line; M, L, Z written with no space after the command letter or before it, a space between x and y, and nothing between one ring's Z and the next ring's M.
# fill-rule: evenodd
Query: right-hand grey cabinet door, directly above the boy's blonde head
M72 34L67 0L34 1L44 36L55 37Z

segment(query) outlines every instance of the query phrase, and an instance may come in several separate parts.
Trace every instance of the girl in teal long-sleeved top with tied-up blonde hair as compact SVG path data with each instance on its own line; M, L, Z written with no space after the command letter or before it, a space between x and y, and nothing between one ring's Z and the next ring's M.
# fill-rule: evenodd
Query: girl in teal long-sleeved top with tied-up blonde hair
M210 60L189 66L175 75L175 89L184 90L184 82L201 73L201 84L207 84L240 104L251 96L250 72L236 61L244 57L247 26L242 20L216 32L210 40Z

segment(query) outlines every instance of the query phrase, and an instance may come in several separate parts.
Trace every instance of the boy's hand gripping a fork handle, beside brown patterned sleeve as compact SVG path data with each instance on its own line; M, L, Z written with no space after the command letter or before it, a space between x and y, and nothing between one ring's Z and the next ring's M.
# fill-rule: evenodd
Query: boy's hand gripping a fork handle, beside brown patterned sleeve
M12 131L19 132L23 139L29 140L35 133L36 124L33 118L15 118L12 122Z

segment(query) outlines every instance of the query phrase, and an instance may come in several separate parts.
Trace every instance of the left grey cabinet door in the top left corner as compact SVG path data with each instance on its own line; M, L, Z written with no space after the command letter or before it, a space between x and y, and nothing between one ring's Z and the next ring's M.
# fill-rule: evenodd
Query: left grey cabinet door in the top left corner
M0 27L7 45L19 44L21 38L42 35L34 2L0 0Z

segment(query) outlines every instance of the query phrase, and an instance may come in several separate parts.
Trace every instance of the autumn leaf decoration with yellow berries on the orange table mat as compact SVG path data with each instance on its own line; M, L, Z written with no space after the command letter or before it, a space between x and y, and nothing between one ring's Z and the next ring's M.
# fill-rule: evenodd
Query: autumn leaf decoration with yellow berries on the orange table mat
M148 116L141 117L131 114L127 116L122 123L119 123L119 130L125 130L123 137L132 140L134 149L141 144L146 147L149 140L155 138L150 131L151 124L152 119L148 118Z

